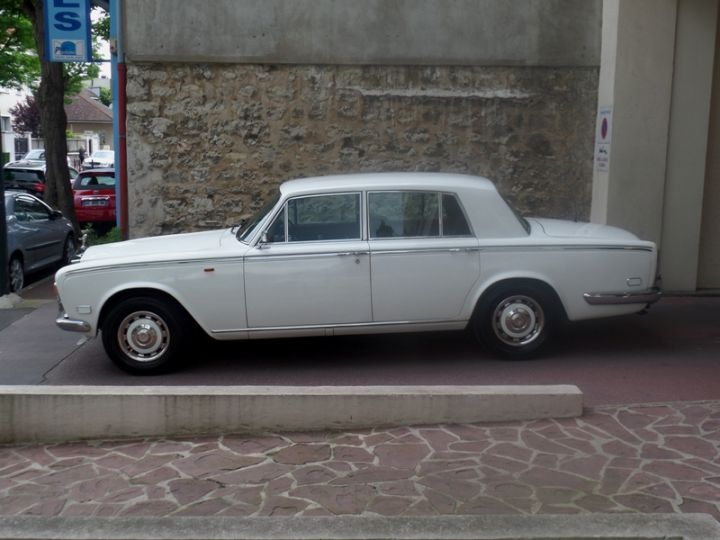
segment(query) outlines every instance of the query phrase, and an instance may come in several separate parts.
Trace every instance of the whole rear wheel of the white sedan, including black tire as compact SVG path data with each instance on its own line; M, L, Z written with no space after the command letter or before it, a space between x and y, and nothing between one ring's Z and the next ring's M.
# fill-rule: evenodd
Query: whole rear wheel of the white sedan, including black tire
M537 356L555 330L561 309L547 288L507 284L488 291L473 318L476 337L507 360Z

